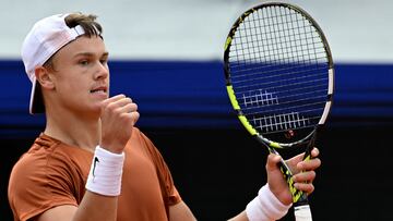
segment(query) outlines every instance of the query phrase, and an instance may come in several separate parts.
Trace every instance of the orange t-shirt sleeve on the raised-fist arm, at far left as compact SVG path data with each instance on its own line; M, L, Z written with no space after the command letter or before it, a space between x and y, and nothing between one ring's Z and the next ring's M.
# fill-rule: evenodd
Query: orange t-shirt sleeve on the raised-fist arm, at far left
M69 165L55 161L26 154L13 167L8 195L17 220L28 220L60 205L78 206Z

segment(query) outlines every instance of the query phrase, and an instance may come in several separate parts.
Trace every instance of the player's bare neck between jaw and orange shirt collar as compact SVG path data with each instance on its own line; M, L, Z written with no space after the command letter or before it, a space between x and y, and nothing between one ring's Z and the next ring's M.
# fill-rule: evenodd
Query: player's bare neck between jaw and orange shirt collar
M92 118L70 111L47 110L45 134L64 144L94 150L100 142L99 116Z

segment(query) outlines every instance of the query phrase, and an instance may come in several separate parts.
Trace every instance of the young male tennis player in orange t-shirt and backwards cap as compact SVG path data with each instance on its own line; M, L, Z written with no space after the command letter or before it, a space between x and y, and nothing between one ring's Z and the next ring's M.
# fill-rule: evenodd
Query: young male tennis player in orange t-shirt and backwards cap
M109 97L108 52L96 16L59 14L38 21L22 46L33 83L31 113L45 112L45 131L13 167L9 202L14 220L191 221L170 171L153 143L134 126L138 107ZM312 193L312 160L290 159L298 189ZM274 220L291 196L270 155L267 183L231 220Z

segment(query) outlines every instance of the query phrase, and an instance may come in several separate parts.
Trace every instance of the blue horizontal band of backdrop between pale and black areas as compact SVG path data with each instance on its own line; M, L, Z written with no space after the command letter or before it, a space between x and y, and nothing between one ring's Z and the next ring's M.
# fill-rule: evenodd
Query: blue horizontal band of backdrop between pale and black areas
M111 61L111 95L138 105L141 127L236 127L221 61ZM38 128L28 114L31 82L22 61L0 61L0 134ZM393 64L335 64L332 126L393 124Z

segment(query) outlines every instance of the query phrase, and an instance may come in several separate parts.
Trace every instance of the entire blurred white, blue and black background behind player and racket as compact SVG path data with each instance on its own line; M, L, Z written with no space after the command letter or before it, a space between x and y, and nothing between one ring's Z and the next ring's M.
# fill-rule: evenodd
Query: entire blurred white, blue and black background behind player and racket
M127 94L138 126L171 169L199 220L242 211L265 183L267 151L238 122L222 58L229 27L255 0L0 0L0 219L12 220L8 177L44 130L28 114L22 41L45 16L98 15L110 52L111 94ZM393 130L393 2L294 0L322 27L335 62L332 114L320 134L322 167L310 196L314 220L392 220L386 172ZM291 152L283 152L284 156ZM291 211L282 220L293 220ZM340 216L337 216L340 214Z

